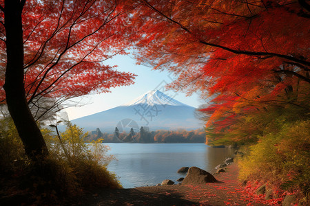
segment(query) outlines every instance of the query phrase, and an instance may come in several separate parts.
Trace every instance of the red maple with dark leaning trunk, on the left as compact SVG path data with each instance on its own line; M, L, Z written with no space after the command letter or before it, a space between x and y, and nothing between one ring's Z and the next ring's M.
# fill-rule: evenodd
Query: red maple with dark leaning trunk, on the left
M0 98L25 152L40 159L48 150L29 106L38 111L53 100L39 119L68 98L133 83L134 74L103 64L130 44L127 8L122 1L3 0L0 9Z

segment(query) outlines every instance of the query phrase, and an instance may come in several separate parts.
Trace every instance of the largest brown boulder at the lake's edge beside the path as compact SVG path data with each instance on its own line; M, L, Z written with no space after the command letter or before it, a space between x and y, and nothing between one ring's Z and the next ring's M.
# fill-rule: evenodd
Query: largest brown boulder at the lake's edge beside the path
M201 170L197 167L189 168L185 179L183 180L183 185L200 185L205 183L214 183L217 180L212 174L205 170Z

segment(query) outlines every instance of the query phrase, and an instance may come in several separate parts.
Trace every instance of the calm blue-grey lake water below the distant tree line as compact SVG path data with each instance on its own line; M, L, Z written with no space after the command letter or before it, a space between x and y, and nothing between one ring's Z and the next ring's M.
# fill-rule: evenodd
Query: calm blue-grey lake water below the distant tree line
M110 143L112 161L108 170L120 177L124 188L157 185L164 179L183 176L181 167L196 166L208 172L232 155L229 148L210 148L205 144L134 144Z

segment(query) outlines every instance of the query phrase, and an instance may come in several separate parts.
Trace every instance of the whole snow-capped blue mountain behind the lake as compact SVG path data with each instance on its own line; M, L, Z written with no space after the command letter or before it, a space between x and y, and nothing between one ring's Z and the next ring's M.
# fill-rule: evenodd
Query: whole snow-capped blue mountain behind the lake
M116 126L126 131L130 128L138 130L141 126L149 130L192 130L203 127L203 122L194 115L195 110L156 90L148 91L121 106L73 119L72 123L85 131L99 128L104 133L114 132Z

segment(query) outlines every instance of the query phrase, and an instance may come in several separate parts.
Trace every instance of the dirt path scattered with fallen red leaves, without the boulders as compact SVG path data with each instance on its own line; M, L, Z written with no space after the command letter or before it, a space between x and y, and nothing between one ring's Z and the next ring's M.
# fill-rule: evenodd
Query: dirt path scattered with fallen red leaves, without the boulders
M206 185L165 185L103 190L84 196L77 205L268 205L262 196L254 196L238 183L238 166L215 175L218 183Z

